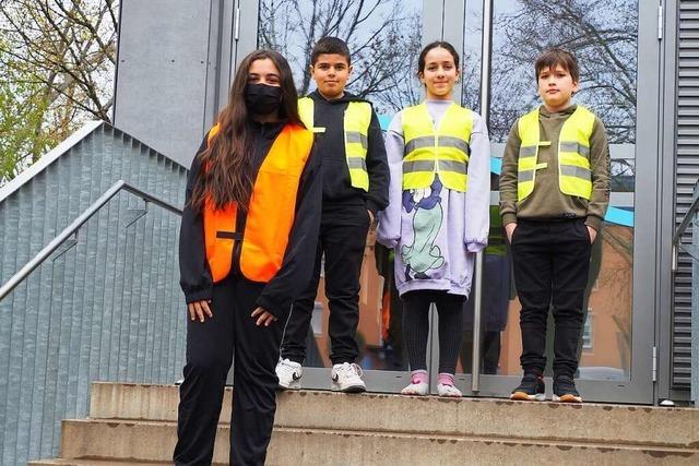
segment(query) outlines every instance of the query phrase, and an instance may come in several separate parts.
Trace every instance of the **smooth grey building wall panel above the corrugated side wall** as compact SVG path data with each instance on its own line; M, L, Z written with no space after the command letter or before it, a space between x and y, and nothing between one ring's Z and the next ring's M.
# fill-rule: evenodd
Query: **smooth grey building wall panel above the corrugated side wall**
M220 3L122 0L120 5L115 126L186 167L215 113Z

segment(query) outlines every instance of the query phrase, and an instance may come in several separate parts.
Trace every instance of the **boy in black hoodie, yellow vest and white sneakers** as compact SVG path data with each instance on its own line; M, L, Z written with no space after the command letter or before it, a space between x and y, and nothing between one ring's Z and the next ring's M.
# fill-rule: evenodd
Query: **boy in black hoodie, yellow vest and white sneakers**
M319 39L311 51L310 72L318 88L299 99L298 112L306 128L316 134L315 151L323 165L320 237L313 275L294 302L276 374L280 387L300 387L306 338L324 255L331 387L364 392L355 340L359 273L369 226L388 205L386 147L371 104L345 91L352 72L347 45L336 37Z

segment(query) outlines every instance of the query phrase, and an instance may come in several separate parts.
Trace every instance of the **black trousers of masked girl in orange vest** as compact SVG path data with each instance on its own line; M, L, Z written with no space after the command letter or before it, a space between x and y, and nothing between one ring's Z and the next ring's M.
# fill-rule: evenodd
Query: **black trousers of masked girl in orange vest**
M276 409L274 368L284 322L257 326L250 316L264 284L228 277L214 285L213 318L187 322L180 386L177 465L211 464L226 375L234 361L230 464L263 465Z

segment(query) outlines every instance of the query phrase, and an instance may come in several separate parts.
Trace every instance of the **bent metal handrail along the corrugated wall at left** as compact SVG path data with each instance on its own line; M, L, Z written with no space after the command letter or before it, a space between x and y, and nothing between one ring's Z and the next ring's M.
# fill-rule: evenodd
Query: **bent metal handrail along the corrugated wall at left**
M125 190L132 194L138 195L146 203L152 202L153 204L159 207L163 207L166 211L169 211L180 216L182 215L182 211L174 206L173 204L166 201L163 201L144 191L141 191L138 188L133 188L132 186L130 186L123 180L119 180L116 183L114 183L107 191L105 191L104 194L99 196L99 199L93 202L90 205L90 207L83 211L83 213L80 214L78 218L73 220L72 224L67 226L63 229L63 231L61 231L48 244L46 244L44 249L37 252L36 255L29 262L27 262L14 275L12 275L12 277L4 285L2 285L2 287L0 287L0 301L2 301L4 297L8 296L14 288L16 288L16 286L20 285L36 267L42 265L42 263L46 261L46 259L48 259L48 256L51 255L51 253L56 251L63 243L63 241L66 241L68 238L71 237L71 235L78 231L80 227L82 227L85 224L85 222L92 218L92 216L95 215L97 211L99 211L107 202L111 200L111 198L117 195L121 190Z

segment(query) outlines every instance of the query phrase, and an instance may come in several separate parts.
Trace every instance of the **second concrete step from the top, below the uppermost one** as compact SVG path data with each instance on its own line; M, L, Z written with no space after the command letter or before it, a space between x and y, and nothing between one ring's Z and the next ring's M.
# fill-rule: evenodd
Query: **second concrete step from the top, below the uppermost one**
M561 420L560 426L567 422ZM228 426L216 433L214 462L225 463ZM139 462L170 458L176 423L169 421L68 420L63 458L112 457ZM611 445L557 440L528 441L437 433L371 432L332 429L274 429L269 465L696 465L694 449Z

